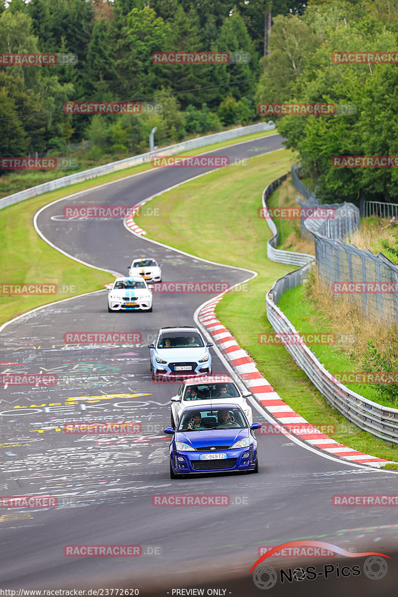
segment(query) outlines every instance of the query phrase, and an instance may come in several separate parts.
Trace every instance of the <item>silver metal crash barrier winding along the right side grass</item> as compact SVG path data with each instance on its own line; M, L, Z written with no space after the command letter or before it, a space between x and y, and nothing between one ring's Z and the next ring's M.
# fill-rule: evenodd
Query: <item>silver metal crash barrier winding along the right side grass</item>
M266 207L265 202L271 191L276 189L286 177L287 174L281 179L269 184L266 189L264 189L263 208ZM351 213L349 214L349 217L352 217ZM277 333L298 334L294 325L279 307L277 307L277 303L279 302L281 294L288 290L288 288L295 288L303 282L311 268L314 257L306 254L290 253L290 251L276 250L273 247L271 247L272 251L269 251L269 244L272 241L277 244L278 241L275 224L272 222L273 227L271 227L271 220L267 219L267 222L274 232L273 238L267 243L267 256L270 259L280 263L297 265L298 263L295 263L293 261L294 257L292 258L291 256L303 256L303 261L304 257L307 257L306 264L300 267L300 269L279 278L274 282L271 290L266 293L267 318L273 329ZM274 251L277 251L276 257L278 259L273 259ZM281 253L285 253L284 258L280 255ZM284 260L282 261L282 259ZM372 433L372 435L378 438L398 444L398 409L381 406L335 381L329 371L325 369L305 344L285 344L285 348L292 355L297 365L307 374L308 378L310 378L322 396L325 397L331 407L335 408L360 429Z

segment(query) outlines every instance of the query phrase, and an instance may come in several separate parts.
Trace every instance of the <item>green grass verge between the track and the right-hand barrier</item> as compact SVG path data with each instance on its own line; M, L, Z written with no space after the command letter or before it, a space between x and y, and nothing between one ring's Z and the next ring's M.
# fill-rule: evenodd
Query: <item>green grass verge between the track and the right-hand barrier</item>
M267 259L270 231L266 222L258 219L257 209L264 187L288 171L292 163L292 154L282 150L252 158L246 168L218 170L153 199L152 207L162 207L162 219L141 216L136 221L156 241L198 257L257 271L249 292L227 294L218 303L218 318L280 397L307 421L318 427L334 425L336 432L328 435L348 447L396 460L397 447L347 425L345 418L329 407L283 346L258 343L258 334L273 332L264 295L292 268Z

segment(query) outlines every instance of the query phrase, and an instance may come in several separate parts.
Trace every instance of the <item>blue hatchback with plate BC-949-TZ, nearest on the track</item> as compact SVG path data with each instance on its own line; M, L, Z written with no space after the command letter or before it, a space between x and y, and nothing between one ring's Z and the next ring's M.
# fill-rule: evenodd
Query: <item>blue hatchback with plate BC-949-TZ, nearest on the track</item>
M242 409L236 404L220 408L187 407L181 413L170 444L170 478L190 473L251 470L258 473L257 441Z

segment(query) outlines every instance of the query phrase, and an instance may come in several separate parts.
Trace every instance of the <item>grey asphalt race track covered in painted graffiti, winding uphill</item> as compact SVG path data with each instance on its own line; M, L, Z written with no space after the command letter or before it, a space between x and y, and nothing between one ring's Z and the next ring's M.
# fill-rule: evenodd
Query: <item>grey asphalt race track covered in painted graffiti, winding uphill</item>
M280 139L254 143L267 151L278 149ZM242 157L249 147L244 143L223 153ZM81 193L74 201L134 205L197 174L150 172ZM104 226L100 221L52 219L62 213L62 205L57 202L41 212L39 229L61 250L94 266L123 273L133 255L144 253L163 263L165 281L236 284L248 278L247 270L138 238L121 221ZM225 588L223 580L240 575L247 594L255 589L257 595L248 571L261 545L310 537L356 551L382 552L394 546L393 508L335 507L331 500L334 494L395 494L396 476L324 458L297 439L272 433L271 418L255 402L254 418L268 430L258 435L258 475L169 479L169 438L162 429L169 423L169 399L178 384L152 382L146 344L162 325L193 324L195 310L213 296L159 294L152 313L108 313L106 292L100 291L36 309L4 328L3 373L52 373L58 384L8 386L2 392L2 496L55 496L58 505L4 509L2 587L123 586L144 595L156 577L162 583L159 595L171 595L172 589L192 586L199 570L209 588L216 582ZM64 333L70 331L136 332L142 338L119 346L65 344ZM214 371L228 370L218 350L213 357ZM69 435L62 429L70 421L136 421L142 432ZM153 498L163 494L228 496L229 505L153 505ZM64 546L75 544L134 544L142 546L143 555L65 556Z

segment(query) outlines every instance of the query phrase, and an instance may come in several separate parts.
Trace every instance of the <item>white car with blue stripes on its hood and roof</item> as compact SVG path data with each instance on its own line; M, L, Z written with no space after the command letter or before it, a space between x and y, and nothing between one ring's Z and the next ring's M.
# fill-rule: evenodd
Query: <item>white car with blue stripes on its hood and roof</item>
M108 311L152 311L152 288L142 278L116 278L108 294Z

